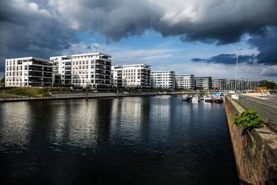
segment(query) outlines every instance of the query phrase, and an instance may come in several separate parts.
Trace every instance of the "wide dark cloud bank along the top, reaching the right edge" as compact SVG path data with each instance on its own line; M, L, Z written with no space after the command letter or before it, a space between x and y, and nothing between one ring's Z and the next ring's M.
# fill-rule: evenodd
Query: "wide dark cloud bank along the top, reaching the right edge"
M116 41L154 29L164 37L179 35L183 42L229 44L244 33L262 35L265 26L277 24L276 0L50 0L49 4L73 27Z

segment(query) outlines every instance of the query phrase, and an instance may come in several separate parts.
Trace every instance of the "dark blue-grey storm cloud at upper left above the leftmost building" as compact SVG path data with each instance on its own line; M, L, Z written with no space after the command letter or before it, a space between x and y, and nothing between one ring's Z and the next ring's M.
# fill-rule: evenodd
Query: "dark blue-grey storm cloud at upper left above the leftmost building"
M36 3L1 1L0 71L6 58L49 58L78 41L74 30Z

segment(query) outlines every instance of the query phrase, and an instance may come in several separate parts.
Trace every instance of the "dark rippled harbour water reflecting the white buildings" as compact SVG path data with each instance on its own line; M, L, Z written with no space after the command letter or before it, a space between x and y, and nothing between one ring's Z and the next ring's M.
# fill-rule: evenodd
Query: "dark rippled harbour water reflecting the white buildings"
M224 105L179 96L0 104L0 182L237 184Z

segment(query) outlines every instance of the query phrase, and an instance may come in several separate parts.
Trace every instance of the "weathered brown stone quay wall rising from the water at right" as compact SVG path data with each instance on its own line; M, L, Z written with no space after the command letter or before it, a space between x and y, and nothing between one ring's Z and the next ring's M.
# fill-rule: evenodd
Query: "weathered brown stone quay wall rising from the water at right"
M250 132L233 125L244 108L226 96L225 112L242 184L277 184L277 134L268 127Z

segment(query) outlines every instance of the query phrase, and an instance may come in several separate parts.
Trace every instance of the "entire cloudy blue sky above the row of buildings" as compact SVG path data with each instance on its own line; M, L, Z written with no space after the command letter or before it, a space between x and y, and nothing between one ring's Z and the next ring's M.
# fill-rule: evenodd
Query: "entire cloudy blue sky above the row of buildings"
M100 52L112 65L277 82L276 0L10 0L0 6L7 58Z

